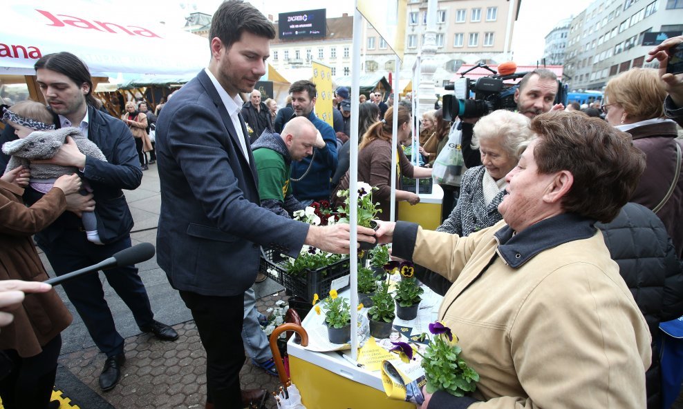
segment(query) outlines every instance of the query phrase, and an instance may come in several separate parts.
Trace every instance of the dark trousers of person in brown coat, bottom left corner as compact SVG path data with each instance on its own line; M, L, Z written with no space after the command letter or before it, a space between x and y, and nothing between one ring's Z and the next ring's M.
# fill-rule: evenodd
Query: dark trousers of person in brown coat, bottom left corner
M62 336L57 335L34 357L19 357L15 350L5 350L14 368L0 381L0 397L5 409L46 409L50 403L57 358L62 350Z

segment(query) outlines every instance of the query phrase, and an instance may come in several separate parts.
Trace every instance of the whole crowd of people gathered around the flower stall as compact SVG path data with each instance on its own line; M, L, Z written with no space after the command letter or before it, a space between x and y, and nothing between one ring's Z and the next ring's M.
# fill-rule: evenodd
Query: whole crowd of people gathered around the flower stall
M225 1L212 19L207 68L154 112L130 101L120 119L97 109L91 75L75 55L35 63L48 108L27 101L0 112L0 306L23 306L13 321L0 312L6 408L54 406L59 334L72 320L57 293L39 283L48 277L31 237L57 276L131 247L133 218L122 189L137 188L155 162L157 261L207 352L205 407L263 399L265 390L243 390L239 376L247 356L277 375L252 288L265 279L259 249L297 257L304 245L340 254L357 246L346 224L292 219L314 201L338 206L337 191L354 177L350 90L335 90L332 126L317 117L311 81L292 83L282 108L261 101L254 85L274 37L256 8ZM416 263L420 281L444 296L439 319L480 375L473 394L425 392L421 409L671 403L657 341L659 323L683 315L683 143L676 128L683 124L683 74L666 74L668 50L680 43L683 37L669 39L651 52L659 70L633 68L611 79L599 107L604 119L555 103L557 78L542 68L518 84L516 112L453 123L442 109L423 112L420 148L411 152L418 165L403 148L413 140L411 104L379 92L360 101L357 178L377 188L382 212L377 232L357 228L358 241L391 242L393 257ZM397 201L419 203L419 194L401 189L401 178L430 178L453 138L465 168L457 186L444 186L442 225L430 232L390 222L392 182ZM104 274L140 330L178 338L154 319L135 266ZM111 390L126 357L102 282L89 275L63 286L106 356L99 382Z

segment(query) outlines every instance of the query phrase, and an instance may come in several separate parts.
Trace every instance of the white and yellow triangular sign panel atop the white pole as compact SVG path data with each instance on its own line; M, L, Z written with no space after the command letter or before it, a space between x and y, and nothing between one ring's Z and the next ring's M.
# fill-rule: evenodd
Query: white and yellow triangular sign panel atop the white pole
M357 9L403 61L408 0L358 0Z

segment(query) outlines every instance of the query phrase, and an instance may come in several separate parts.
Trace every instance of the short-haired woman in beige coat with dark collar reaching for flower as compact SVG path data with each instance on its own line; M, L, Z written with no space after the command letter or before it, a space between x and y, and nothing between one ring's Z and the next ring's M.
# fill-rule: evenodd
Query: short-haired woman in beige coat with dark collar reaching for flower
M503 221L468 237L380 222L393 255L453 282L438 318L480 375L471 396L427 393L420 408L644 408L648 326L594 226L631 197L644 154L580 112L531 129Z

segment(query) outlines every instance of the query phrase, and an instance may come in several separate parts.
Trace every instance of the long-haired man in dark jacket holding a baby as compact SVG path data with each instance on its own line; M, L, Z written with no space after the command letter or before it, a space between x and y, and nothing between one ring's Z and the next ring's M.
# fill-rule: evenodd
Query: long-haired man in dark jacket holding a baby
M38 246L59 276L92 266L131 247L133 217L122 189L133 190L140 186L142 170L129 128L122 121L95 108L93 82L83 61L69 52L57 52L39 59L35 69L40 90L55 114L55 126L80 128L106 157L106 161L87 157L68 138L68 143L59 148L53 159L41 161L77 168L93 189L93 193L86 196L71 194L66 205L69 211L35 235ZM0 158L3 169L6 166L6 163L2 163L5 159ZM24 200L29 206L41 197L40 192L31 186L26 187ZM93 210L97 212L97 232L104 243L102 246L86 239L79 217L81 212ZM112 268L106 270L104 275L133 312L140 330L153 332L159 339L178 338L173 328L153 319L147 290L135 266ZM120 368L126 357L124 339L117 332L111 310L104 299L102 281L98 275L87 275L62 286L97 348L106 355L100 388L111 390L120 379Z

